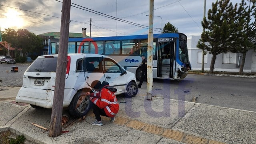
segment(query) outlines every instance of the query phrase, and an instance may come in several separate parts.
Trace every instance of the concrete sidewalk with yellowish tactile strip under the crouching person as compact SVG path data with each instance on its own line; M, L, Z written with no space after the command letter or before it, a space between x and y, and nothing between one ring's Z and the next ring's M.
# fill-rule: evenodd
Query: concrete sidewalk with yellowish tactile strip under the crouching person
M64 125L62 135L50 138L48 131L31 123L50 128L51 109L18 105L14 98L19 88L5 89L0 91L0 131L24 134L38 144L256 143L256 112L172 100L161 94L148 101L143 88L134 98L117 96L122 103L114 123L102 117L103 126L92 126L90 111L85 120Z

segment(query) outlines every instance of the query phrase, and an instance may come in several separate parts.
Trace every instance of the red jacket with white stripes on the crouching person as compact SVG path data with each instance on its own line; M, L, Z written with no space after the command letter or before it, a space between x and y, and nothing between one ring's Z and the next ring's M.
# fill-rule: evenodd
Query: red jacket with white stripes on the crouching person
M93 95L94 93L90 94L90 96ZM119 110L116 95L107 88L102 88L102 90L100 90L96 95L99 95L97 96L98 98L95 98L94 96L94 98L92 98L92 102L99 108L103 108L107 116L111 118L116 116Z

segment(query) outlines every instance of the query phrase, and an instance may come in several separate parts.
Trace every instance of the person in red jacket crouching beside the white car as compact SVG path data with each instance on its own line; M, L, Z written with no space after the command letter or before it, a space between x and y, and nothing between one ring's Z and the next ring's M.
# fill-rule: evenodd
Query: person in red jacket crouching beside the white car
M95 80L91 84L94 91L98 93L87 92L86 95L90 95L92 101L92 109L95 115L96 121L91 124L94 126L102 126L102 120L100 116L110 117L110 122L114 122L116 114L119 110L119 104L114 92L116 89L109 86L109 83L103 81L102 83Z

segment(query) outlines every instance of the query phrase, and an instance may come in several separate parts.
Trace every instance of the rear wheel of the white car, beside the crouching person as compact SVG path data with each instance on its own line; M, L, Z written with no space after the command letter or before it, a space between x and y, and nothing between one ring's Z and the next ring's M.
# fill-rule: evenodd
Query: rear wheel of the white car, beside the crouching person
M69 113L74 117L83 117L90 110L92 103L86 92L77 92L68 106Z

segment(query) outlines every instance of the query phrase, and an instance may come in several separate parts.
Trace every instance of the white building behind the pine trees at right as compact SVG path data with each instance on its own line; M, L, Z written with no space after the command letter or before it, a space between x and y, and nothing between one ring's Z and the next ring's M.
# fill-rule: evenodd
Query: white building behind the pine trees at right
M202 69L202 50L196 47L200 38L201 36L188 38L188 55L193 70ZM211 60L212 54L207 53L204 56L204 70L210 70ZM239 72L241 62L242 53L228 51L218 54L214 64L214 71ZM254 50L247 52L243 72L256 72L256 52Z

